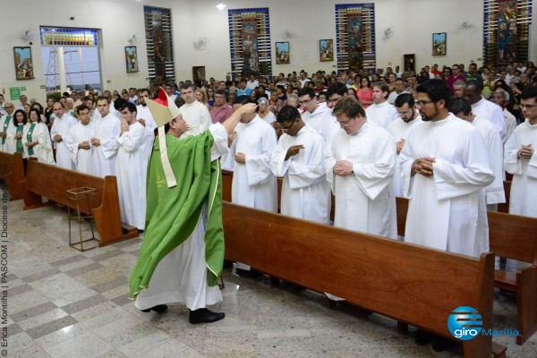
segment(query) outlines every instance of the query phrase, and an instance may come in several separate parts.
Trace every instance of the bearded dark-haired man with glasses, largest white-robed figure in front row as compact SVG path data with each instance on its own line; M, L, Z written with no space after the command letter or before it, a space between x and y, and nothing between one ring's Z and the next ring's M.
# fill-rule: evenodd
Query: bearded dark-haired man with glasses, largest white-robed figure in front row
M399 155L405 196L410 196L405 242L479 257L489 251L484 188L494 180L480 132L450 114L451 91L443 80L417 88L423 124L408 134ZM483 215L485 214L485 215ZM418 330L416 344L435 336ZM432 348L455 345L437 337Z

